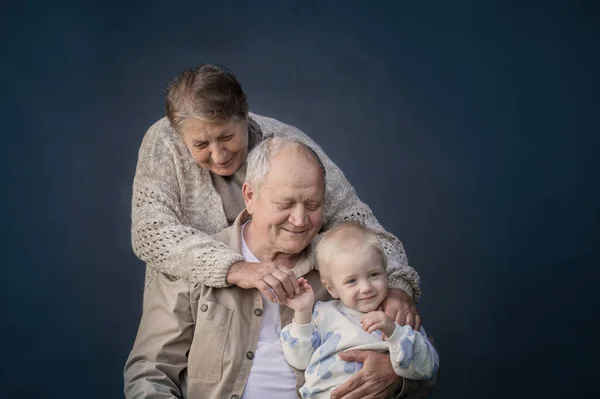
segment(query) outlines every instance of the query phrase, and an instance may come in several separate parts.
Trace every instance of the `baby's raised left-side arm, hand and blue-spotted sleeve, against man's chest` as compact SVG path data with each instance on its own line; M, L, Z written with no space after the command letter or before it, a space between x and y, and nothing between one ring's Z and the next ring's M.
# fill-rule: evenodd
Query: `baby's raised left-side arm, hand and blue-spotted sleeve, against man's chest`
M299 295L288 299L287 306L294 309L294 320L281 330L283 354L290 366L305 370L316 348L321 345L319 331L312 320L315 294L308 282L298 279Z

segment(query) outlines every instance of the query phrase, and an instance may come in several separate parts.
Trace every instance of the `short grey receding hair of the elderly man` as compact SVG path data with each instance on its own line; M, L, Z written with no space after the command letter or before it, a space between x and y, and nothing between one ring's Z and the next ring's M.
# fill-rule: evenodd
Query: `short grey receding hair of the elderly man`
M250 154L248 154L246 182L252 184L252 187L256 192L260 191L265 176L269 173L271 168L271 158L287 149L293 149L299 153L304 153L317 161L319 168L323 171L323 182L325 182L325 166L315 150L298 139L290 137L270 137L260 142L254 147Z

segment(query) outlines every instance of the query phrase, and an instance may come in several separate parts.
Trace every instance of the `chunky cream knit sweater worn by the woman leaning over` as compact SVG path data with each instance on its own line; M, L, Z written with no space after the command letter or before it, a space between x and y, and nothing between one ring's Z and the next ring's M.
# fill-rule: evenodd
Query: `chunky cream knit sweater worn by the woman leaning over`
M373 229L388 258L388 284L417 302L419 275L408 265L400 240L379 224L343 172L299 129L250 113L250 129L263 139L292 137L313 148L326 170L322 231L354 221ZM252 133L252 132L251 132ZM142 141L133 181L131 241L146 262L145 292L157 272L210 287L227 287L229 267L244 258L210 237L228 227L223 199L210 171L200 167L167 118L152 125Z

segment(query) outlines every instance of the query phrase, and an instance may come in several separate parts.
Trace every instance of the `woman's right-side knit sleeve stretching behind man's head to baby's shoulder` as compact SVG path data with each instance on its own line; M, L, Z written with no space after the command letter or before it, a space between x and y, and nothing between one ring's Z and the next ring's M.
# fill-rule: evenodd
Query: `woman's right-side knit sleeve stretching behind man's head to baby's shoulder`
M347 221L369 227L378 235L388 260L388 285L406 292L416 303L421 297L420 278L408 265L402 242L386 231L371 208L362 202L344 173L310 137L301 130L271 118L257 117L266 135L295 137L313 148L326 170L325 215L323 231Z

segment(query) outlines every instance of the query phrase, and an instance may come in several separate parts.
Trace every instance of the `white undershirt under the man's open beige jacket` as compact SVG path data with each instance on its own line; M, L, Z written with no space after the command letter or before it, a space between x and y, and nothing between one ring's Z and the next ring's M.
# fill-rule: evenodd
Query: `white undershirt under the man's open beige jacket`
M247 224L247 223L246 223ZM246 262L260 262L250 251L244 240L244 227L241 229L242 255ZM258 345L252 360L252 368L242 393L242 399L290 398L296 399L296 375L283 355L279 334L281 320L279 305L263 295L263 314Z

